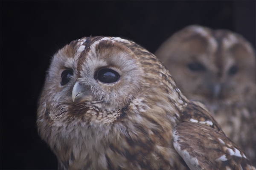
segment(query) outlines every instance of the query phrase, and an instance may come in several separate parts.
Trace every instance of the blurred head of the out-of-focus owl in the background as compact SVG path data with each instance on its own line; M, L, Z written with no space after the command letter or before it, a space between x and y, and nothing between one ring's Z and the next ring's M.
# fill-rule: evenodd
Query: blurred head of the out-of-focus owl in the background
M231 31L189 26L164 42L156 56L190 99L230 103L255 88L253 48Z

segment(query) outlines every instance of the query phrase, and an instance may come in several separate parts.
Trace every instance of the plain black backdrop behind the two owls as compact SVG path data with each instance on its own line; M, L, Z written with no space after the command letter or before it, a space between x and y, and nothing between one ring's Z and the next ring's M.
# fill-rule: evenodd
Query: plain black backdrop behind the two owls
M256 1L1 1L1 169L56 169L37 135L36 105L52 55L84 36L133 40L154 53L199 24L255 47Z

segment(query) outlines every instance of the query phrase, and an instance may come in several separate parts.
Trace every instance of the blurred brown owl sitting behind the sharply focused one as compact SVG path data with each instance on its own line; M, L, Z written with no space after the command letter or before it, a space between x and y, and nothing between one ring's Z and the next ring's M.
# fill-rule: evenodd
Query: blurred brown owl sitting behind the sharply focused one
M256 164L256 56L250 43L228 30L188 26L155 55L181 92L204 103Z

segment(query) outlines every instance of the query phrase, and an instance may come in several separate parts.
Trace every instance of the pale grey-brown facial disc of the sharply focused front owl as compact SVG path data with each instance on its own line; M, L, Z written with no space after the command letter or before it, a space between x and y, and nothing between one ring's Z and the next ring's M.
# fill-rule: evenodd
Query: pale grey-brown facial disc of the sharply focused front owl
M111 41L78 41L66 45L53 58L46 89L56 93L47 93L49 102L97 102L99 109L107 112L127 106L142 84L143 71L134 53Z

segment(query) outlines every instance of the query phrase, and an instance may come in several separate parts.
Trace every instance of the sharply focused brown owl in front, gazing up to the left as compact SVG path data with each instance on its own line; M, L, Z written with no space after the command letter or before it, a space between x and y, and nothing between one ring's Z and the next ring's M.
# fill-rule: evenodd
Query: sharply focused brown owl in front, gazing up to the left
M38 134L59 170L256 170L154 54L119 37L83 37L52 57Z

